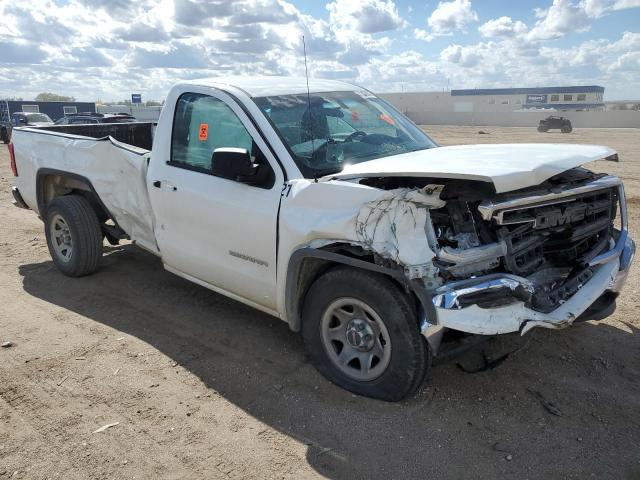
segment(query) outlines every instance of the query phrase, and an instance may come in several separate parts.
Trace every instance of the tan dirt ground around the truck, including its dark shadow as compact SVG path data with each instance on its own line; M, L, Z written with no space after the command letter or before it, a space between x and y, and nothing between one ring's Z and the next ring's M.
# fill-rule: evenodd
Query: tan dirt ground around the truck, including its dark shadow
M632 232L640 131L426 127L441 144L610 145ZM478 134L483 130L488 134ZM414 398L324 380L277 319L162 269L131 246L100 271L54 268L42 223L11 205L0 147L0 480L236 478L640 479L640 309L634 268L602 322L485 344L434 367ZM95 430L115 424L102 432Z

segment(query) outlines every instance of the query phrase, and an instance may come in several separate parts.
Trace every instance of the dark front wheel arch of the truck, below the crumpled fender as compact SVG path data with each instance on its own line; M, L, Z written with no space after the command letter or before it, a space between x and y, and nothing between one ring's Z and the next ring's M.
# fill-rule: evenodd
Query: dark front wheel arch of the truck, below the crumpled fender
M412 297L412 301L417 301L415 292L400 266L392 268L378 265L364 255L340 253L341 248L353 251L350 244L335 243L323 248L302 247L291 255L285 286L285 310L291 330L299 332L302 328L302 305L313 282L336 266L349 266L389 277Z

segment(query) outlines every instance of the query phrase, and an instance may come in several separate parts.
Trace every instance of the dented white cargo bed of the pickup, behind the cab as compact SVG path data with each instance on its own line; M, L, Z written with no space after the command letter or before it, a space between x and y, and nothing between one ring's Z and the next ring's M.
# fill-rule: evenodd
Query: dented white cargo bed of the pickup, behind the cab
M151 123L16 128L16 185L27 205L38 211L39 177L82 177L131 240L156 252L147 191L152 132Z

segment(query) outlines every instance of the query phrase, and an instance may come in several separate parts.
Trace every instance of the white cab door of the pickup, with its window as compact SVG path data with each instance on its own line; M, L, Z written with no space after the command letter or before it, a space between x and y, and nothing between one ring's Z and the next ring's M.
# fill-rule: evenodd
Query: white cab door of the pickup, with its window
M244 148L270 181L251 186L213 174L216 148ZM267 310L276 309L276 237L283 174L252 122L223 92L184 93L166 158L148 189L166 267Z

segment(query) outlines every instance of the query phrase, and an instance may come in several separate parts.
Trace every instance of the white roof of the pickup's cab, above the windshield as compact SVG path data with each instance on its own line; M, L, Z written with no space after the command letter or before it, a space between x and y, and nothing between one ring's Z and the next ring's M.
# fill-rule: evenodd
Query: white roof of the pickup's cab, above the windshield
M266 97L271 95L297 95L307 93L307 79L305 77L256 76L256 77L211 77L180 82L179 85L199 85L204 87L223 88L235 87L244 90L250 97ZM337 80L309 78L309 91L320 92L349 92L362 91L350 83Z

